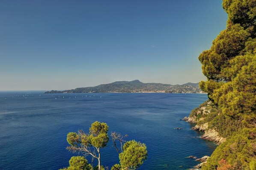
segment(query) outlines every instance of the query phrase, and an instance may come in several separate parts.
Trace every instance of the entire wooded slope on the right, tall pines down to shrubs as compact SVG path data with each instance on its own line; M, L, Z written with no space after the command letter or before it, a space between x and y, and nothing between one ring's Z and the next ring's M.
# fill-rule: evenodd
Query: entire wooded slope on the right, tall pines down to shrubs
M203 123L227 140L202 170L256 170L256 0L223 0L223 9L226 29L199 55L199 86L216 106Z

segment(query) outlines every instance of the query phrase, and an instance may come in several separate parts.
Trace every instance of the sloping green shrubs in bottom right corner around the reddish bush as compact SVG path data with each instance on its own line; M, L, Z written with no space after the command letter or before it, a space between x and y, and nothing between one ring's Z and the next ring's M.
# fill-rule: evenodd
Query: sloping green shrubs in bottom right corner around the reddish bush
M250 170L256 160L256 128L241 129L232 138L218 146L202 170L216 170L219 161L226 159L234 170Z

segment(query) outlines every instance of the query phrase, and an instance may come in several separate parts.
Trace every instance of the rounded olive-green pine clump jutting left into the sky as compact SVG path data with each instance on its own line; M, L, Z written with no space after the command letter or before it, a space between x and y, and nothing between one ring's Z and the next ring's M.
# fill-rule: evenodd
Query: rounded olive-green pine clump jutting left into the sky
M210 50L203 51L198 59L202 63L202 73L215 81L225 79L221 74L228 65L229 59L239 55L244 50L248 33L239 24L230 25L213 41Z

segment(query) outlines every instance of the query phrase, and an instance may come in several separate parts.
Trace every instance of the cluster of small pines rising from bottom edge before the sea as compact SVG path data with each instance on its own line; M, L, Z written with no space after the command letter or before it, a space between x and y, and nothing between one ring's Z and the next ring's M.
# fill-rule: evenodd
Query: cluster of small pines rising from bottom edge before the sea
M67 135L68 150L77 152L83 156L73 156L69 160L69 167L60 170L105 170L101 165L101 148L107 146L109 141L107 123L94 122L89 128L89 133L82 130L69 132ZM123 136L116 132L111 132L113 147L119 154L119 163L115 164L111 170L136 170L147 158L146 145L137 141L125 141ZM91 157L89 164L85 157ZM93 166L94 159L98 160L98 165ZM108 170L109 168L106 167Z

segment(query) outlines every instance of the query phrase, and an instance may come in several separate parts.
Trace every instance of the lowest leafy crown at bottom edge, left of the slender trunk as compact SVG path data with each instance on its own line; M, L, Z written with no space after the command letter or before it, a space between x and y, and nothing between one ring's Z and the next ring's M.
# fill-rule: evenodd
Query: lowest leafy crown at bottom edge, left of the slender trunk
M69 167L60 170L92 170L92 166L83 156L72 156L69 160Z

